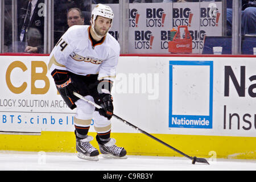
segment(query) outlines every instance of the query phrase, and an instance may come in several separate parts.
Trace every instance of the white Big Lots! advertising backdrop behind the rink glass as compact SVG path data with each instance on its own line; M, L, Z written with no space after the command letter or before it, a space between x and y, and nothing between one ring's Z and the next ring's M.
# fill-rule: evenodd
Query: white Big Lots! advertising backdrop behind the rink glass
M118 40L119 5L109 6L114 12L110 34ZM128 52L168 53L172 28L188 26L192 53L201 53L205 35L222 35L222 15L222 2L130 3Z

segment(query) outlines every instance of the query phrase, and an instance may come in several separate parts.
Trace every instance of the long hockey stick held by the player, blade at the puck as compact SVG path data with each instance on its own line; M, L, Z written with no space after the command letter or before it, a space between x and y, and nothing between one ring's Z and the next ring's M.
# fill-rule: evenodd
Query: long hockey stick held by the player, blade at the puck
M92 101L87 100L86 98L82 97L80 94L78 94L78 93L76 93L76 92L73 92L73 94L74 94L76 97L81 98L82 100L88 102L89 104L92 104L92 105L95 106L96 108L102 109L101 106L95 104L95 103L92 102ZM194 157L188 156L187 154L184 154L183 152L181 152L181 151L177 150L176 148L170 146L170 144L167 144L167 143L163 142L162 140L160 140L160 139L154 137L153 135L147 133L146 131L143 131L142 129L139 129L137 126L135 126L135 125L129 123L129 122L126 121L125 119L122 119L122 118L118 117L118 116L115 115L115 114L113 114L113 117L115 117L115 118L121 120L122 122L126 123L127 125L133 127L134 129L140 131L141 133L147 135L148 137L150 137L150 138L152 138L152 139L154 139L154 140L156 140L156 141L162 143L164 146L171 148L172 150L178 152L179 154L185 156L186 158L191 159L191 160L192 160L192 164L195 164L196 162L209 164L206 159L204 159L204 158L197 158L196 156L194 156Z

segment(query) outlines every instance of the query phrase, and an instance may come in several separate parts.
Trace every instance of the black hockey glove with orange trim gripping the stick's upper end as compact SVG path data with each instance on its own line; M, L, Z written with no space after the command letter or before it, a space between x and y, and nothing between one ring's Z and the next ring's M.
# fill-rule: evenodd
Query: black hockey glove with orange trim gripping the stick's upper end
M57 90L62 96L67 96L77 100L77 97L73 94L73 92L77 92L76 86L67 71L55 69L51 75L55 81Z

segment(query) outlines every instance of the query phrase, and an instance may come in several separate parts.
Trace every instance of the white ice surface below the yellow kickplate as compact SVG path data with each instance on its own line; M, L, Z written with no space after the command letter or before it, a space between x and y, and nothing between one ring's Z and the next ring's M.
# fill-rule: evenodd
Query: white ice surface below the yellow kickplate
M207 159L207 158L206 158ZM1 171L255 171L256 160L207 159L210 165L178 157L135 156L127 159L82 160L76 154L0 151Z

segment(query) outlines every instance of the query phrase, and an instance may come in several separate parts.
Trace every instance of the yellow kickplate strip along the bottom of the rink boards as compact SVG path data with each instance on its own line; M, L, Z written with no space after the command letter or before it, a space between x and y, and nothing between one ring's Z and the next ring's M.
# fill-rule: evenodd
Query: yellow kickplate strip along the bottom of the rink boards
M96 133L89 133L96 137ZM189 156L203 158L255 159L255 137L220 137L202 135L152 134ZM117 145L128 155L182 156L138 133L112 133ZM76 152L75 134L65 131L42 131L41 135L0 135L0 150ZM98 150L96 139L91 142Z

